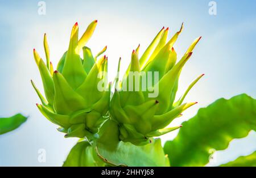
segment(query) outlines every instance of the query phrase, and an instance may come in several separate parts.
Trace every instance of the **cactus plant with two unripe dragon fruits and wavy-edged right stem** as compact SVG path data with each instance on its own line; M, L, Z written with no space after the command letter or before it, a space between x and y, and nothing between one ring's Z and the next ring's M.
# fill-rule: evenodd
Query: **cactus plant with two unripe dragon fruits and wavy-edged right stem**
M183 25L167 43L168 28L162 28L141 58L138 57L139 46L133 50L122 80L119 80L119 60L110 101L108 58L97 60L106 47L93 57L85 46L96 24L97 20L92 22L80 40L77 23L73 26L69 48L55 71L49 60L46 35L46 63L34 50L46 95L45 99L31 80L42 101L36 105L48 120L60 126L58 130L66 133L65 137L82 138L63 166L204 166L209 162L210 150L225 149L233 138L245 137L250 130L255 130L256 100L238 95L200 109L163 148L160 139L152 137L179 129L180 126L166 126L196 104L183 101L204 74L197 77L179 99L176 99L176 92L181 70L201 37L193 41L176 62L173 45ZM83 59L79 56L81 49ZM254 155L236 162L253 165Z

